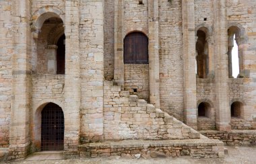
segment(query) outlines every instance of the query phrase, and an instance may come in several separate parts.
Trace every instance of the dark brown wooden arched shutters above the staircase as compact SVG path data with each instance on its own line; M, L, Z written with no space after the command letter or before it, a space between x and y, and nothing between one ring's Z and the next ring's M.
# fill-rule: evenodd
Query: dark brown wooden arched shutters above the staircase
M132 32L124 40L125 64L148 64L148 37L141 32Z

